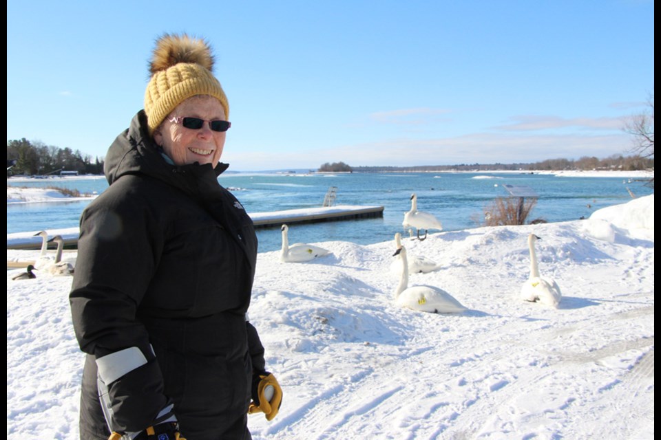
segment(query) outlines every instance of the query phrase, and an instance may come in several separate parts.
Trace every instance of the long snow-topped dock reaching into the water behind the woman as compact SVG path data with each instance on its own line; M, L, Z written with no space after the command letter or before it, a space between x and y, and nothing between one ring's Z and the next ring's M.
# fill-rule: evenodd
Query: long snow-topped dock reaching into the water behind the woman
M301 208L273 212L249 212L255 229L280 228L300 223L319 223L322 221L347 221L355 219L371 219L384 217L383 206L323 206L319 208ZM35 231L37 232L37 231ZM7 234L7 249L39 250L41 236L32 236L35 232ZM47 230L49 236L59 234L64 240L65 249L76 249L78 246L78 228L67 230Z

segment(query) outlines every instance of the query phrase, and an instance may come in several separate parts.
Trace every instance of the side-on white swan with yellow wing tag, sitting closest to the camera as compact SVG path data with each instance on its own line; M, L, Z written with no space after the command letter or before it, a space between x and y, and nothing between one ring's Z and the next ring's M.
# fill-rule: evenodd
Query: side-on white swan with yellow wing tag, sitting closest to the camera
M401 278L399 285L395 289L395 304L409 309L428 311L436 314L450 314L468 310L452 295L439 287L417 285L408 287L408 271L405 267L408 265L406 259L406 248L401 246L395 252L399 254L403 261L401 267Z

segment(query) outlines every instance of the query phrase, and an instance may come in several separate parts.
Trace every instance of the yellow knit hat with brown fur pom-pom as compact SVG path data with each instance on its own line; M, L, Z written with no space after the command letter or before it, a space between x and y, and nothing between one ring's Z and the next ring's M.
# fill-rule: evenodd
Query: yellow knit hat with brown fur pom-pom
M156 41L149 63L151 79L145 90L149 135L183 100L210 95L220 101L229 118L229 104L220 83L211 73L211 47L203 39L165 34Z

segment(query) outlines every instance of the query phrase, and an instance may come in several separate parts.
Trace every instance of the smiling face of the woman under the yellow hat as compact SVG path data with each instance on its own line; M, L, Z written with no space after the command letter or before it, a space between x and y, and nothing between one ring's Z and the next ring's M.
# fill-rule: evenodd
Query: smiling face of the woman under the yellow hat
M176 165L199 162L200 165L216 166L222 155L227 131L212 131L204 122L199 130L187 129L172 118L200 118L203 120L225 120L225 111L220 101L213 96L199 95L182 101L154 131L156 144Z

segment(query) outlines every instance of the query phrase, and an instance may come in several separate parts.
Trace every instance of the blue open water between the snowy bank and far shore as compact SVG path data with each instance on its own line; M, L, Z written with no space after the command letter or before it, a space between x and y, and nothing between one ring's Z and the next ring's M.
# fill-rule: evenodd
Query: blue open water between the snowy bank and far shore
M589 217L594 210L649 195L643 181L622 177L556 177L517 173L354 173L336 175L285 175L234 173L221 175L247 212L271 212L322 206L330 186L337 187L335 205L384 206L384 217L291 225L290 242L351 241L358 244L392 240L404 232L403 213L416 192L418 209L431 212L443 230L476 228L483 208L496 197L506 197L504 184L525 186L538 195L528 217L567 221ZM101 193L105 179L46 179L7 181L8 186L60 186L80 192ZM75 228L90 201L21 203L7 206L7 233ZM260 252L280 249L280 228L259 229Z

